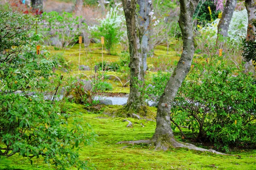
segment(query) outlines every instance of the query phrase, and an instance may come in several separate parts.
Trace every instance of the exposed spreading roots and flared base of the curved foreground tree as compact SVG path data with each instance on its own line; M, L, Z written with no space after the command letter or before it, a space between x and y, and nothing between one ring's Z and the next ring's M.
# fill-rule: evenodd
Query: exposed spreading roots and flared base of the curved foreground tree
M184 147L190 150L199 150L199 151L207 151L211 153L216 153L220 155L228 155L226 153L221 153L216 150L212 149L204 149L201 147L196 147L194 144L177 142L174 137L170 137L167 140L164 140L164 136L158 139L154 139L154 136L150 140L137 140L137 141L122 141L117 142L116 144L152 144L155 146L155 150L168 150L170 147L177 148L177 147ZM232 156L232 155L229 155Z

